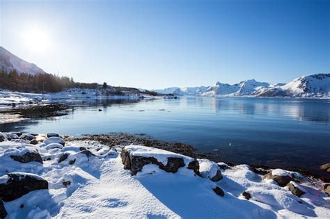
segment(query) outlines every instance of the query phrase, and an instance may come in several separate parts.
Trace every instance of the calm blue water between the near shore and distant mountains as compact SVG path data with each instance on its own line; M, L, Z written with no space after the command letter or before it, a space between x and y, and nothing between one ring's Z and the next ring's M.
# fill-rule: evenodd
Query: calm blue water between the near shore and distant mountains
M98 111L102 109L102 111ZM212 153L219 161L299 167L330 162L329 99L181 97L75 107L52 119L0 124L29 133L147 133ZM325 174L325 173L323 173Z

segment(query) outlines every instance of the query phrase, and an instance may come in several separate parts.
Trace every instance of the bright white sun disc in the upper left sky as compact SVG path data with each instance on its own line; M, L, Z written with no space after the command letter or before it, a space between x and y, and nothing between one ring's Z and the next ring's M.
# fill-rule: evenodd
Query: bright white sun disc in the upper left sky
M48 51L51 46L51 40L47 31L40 29L39 27L33 26L26 29L23 34L24 44L31 51L43 53Z

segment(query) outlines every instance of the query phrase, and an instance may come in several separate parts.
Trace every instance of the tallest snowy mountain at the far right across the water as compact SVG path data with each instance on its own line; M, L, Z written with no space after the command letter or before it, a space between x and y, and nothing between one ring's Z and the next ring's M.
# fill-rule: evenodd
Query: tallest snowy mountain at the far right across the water
M257 97L330 97L330 73L301 76L282 86L260 90Z

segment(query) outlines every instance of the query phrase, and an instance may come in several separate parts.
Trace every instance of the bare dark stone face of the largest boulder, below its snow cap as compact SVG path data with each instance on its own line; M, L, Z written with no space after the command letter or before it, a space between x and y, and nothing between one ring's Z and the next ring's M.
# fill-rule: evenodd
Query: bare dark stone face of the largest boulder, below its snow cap
M141 171L144 165L155 164L158 165L160 169L165 170L166 172L177 172L179 168L185 166L184 161L180 157L168 157L167 163L157 161L155 157L145 157L145 156L135 156L129 154L129 152L124 148L120 154L120 157L123 161L125 170L131 170L132 175L136 175L137 172ZM194 172L199 175L198 161L191 161L187 167L188 169L194 170Z

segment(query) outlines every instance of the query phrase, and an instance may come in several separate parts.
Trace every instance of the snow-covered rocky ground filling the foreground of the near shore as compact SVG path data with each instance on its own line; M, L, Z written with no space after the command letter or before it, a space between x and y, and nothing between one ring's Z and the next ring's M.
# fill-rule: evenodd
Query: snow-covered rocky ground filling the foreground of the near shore
M0 190L10 172L33 174L27 177L46 180L49 188L3 202L6 218L330 218L330 197L322 190L322 181L296 172L273 170L272 175L291 176L292 184L304 191L301 197L248 165L228 167L199 159L200 177L189 169L194 159L130 145L124 152L130 162L140 163L130 163L129 168L143 167L132 176L120 157L125 145L110 148L95 141L45 138L0 133ZM31 161L19 162L26 153L34 154L26 158ZM165 165L173 168L171 157L183 161L177 172L164 169ZM148 159L152 163L143 163ZM211 180L218 171L222 179ZM217 187L223 196L214 192ZM243 197L244 191L249 200Z

